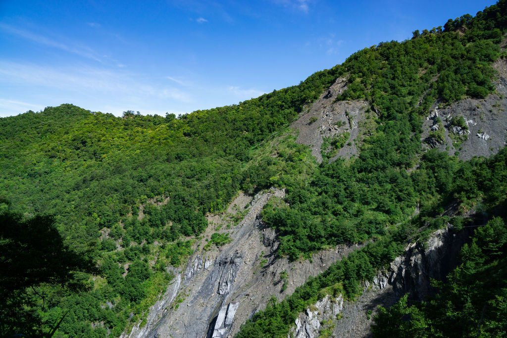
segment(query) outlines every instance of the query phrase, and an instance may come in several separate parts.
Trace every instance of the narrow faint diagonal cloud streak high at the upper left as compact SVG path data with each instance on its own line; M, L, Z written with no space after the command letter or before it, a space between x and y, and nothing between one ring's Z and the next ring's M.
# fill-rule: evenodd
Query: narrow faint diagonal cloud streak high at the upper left
M25 40L28 40L28 41L31 41L31 42L34 42L37 44L57 48L57 49L63 50L68 53L73 53L73 54L76 54L76 55L79 55L79 56L82 56L82 57L85 57L88 59L102 62L101 59L95 54L95 52L91 48L88 48L86 46L81 46L81 45L77 45L77 44L70 44L69 45L69 44L61 43L61 42L55 41L53 39L50 39L47 36L36 34L36 33L30 32L27 30L18 29L16 27L13 27L13 26L10 26L10 25L4 24L4 23L0 23L0 30L3 30L4 32L7 32L7 33L10 33L13 35L17 35L19 37L22 37Z

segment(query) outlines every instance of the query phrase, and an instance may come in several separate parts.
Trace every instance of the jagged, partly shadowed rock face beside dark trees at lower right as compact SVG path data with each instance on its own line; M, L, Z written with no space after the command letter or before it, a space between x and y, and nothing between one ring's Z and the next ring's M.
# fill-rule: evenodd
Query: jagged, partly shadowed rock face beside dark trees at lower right
M456 264L457 254L467 234L453 234L448 229L434 232L425 243L412 243L405 253L380 271L355 302L329 295L305 313L300 314L292 333L298 338L313 338L322 329L336 337L370 335L372 317L379 305L390 306L409 292L412 301L419 301L433 292L431 279L443 280Z

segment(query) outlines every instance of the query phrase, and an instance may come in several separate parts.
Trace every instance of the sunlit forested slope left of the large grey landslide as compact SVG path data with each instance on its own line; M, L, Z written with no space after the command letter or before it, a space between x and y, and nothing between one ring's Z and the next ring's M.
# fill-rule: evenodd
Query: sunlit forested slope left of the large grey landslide
M85 279L89 293L34 285L43 295L31 309L34 326L50 332L63 318L57 334L118 336L143 318L173 278L168 267L192 253L205 214L224 210L240 186L271 184L269 171L250 160L255 146L329 86L333 72L179 119L116 118L69 104L0 119L2 210L54 215L66 244L91 250L102 272ZM304 170L306 149L287 154L301 158L290 170ZM31 332L10 324L13 333Z

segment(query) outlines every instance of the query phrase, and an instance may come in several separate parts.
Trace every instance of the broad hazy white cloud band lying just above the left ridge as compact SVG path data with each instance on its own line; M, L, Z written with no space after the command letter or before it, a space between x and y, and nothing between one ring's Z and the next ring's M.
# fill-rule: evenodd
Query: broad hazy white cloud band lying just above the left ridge
M222 106L265 93L255 88L208 87L181 77L165 78L164 83L124 68L48 67L0 61L0 86L9 84L17 93L28 93L20 96L23 99L17 94L0 94L0 115L16 115L28 109L39 110L64 102L115 115L128 109L157 114L167 108L188 112L203 108L203 105ZM44 97L43 103L40 106L34 104L41 101L41 96Z

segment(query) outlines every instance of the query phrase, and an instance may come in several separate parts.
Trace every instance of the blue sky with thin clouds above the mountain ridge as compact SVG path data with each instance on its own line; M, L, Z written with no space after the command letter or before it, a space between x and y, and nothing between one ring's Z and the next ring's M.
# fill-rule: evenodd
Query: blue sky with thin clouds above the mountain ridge
M0 0L0 117L234 104L495 2Z

